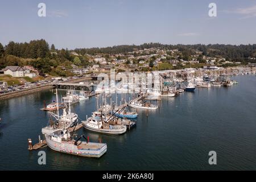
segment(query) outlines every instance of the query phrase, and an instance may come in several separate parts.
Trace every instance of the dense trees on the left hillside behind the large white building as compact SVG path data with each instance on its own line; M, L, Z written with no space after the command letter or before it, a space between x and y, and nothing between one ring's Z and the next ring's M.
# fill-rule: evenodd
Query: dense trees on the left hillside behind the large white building
M88 56L74 56L68 49L57 50L54 44L49 49L46 40L31 40L29 43L9 42L5 47L0 43L0 69L6 66L31 65L42 75L54 73L56 76L72 75L71 72L61 71L65 67L72 69L72 64L88 66Z

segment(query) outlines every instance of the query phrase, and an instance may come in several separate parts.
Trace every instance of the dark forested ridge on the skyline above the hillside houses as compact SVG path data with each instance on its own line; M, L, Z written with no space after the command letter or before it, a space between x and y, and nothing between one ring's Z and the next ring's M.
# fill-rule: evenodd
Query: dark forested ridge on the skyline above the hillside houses
M76 48L74 51L82 55L90 54L95 55L97 53L108 53L108 54L118 54L128 52L138 51L139 49L148 48L160 48L160 49L177 49L183 53L184 57L192 56L200 51L202 55L210 57L224 57L227 60L233 61L247 61L249 57L256 56L256 44L249 45L225 45L225 44L195 44L195 45L168 45L160 43L144 43L139 46L135 45L122 45L113 46L105 48Z

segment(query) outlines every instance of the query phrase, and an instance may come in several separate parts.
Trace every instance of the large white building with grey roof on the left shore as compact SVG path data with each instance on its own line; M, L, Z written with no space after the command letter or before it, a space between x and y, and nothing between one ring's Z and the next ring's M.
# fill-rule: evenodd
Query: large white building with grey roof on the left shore
M36 73L30 72L30 69L27 67L19 66L8 66L5 69L2 69L3 74L11 75L12 77L24 77L28 76L30 78L36 77Z

